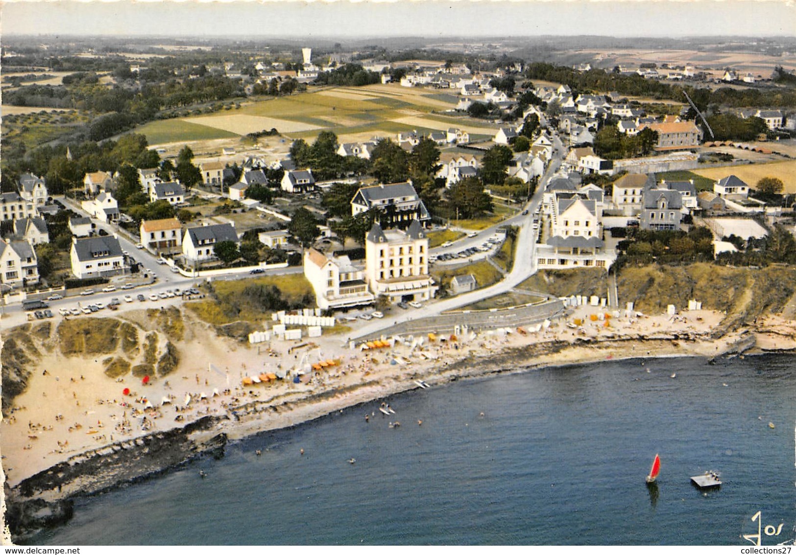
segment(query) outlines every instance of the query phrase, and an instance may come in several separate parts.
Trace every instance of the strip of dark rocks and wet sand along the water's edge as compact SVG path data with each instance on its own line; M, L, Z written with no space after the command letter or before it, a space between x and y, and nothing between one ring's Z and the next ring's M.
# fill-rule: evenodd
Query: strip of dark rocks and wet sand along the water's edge
M75 499L99 495L124 484L170 472L200 456L224 456L228 441L271 429L289 428L338 409L416 389L416 379L432 386L462 378L531 371L542 367L595 363L606 359L661 356L704 356L708 359L744 352L762 353L757 336L735 332L717 340L708 333L666 333L648 336L548 340L484 350L439 366L392 379L373 379L357 386L330 389L307 396L253 401L228 414L201 417L179 428L103 445L72 456L15 487L6 484L6 524L14 538L25 538L43 527L60 526L72 518Z

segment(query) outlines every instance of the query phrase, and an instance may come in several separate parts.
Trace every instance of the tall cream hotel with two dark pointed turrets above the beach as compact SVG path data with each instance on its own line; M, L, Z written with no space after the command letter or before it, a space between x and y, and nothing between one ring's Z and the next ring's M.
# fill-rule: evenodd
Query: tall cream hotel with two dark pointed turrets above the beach
M415 220L407 231L374 223L365 237L365 277L377 297L427 301L439 286L428 274L428 238Z

